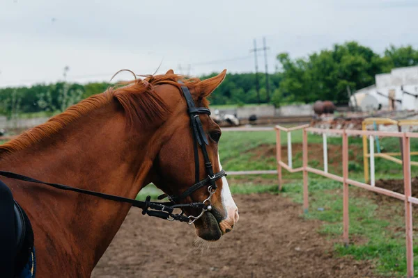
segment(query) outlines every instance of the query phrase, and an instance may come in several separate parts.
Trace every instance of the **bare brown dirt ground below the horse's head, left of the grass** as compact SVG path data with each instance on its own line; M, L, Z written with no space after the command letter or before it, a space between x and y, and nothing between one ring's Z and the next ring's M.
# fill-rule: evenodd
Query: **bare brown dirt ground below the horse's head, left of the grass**
M239 222L210 244L185 223L132 208L92 277L378 277L371 262L336 256L299 204L268 193L234 199Z

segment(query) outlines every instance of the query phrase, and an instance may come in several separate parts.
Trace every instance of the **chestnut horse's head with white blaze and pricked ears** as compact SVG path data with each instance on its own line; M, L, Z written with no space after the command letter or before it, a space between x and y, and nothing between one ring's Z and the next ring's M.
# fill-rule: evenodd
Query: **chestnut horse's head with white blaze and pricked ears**
M178 81L172 70L167 72L167 77L173 81ZM208 108L207 97L222 83L226 75L226 70L221 74L204 81L194 79L185 81L189 89L194 106L196 108ZM181 195L185 193L196 181L208 178L205 159L202 149L194 154L194 139L191 127L191 119L187 113L187 102L183 97L180 86L177 83L167 83L155 87L155 92L166 102L167 106L172 107L171 117L160 127L159 136L169 138L160 146L160 151L155 156L153 177L151 181L162 189L167 195ZM222 171L219 161L218 144L221 137L221 129L207 114L194 115L199 117L203 127L204 136L209 161L212 163L213 172ZM199 163L195 162L199 160ZM199 165L199 166L197 166ZM196 170L196 167L199 167ZM196 173L199 172L199 177ZM231 231L235 222L238 221L238 208L233 201L226 177L215 181L217 190L210 198L210 211L206 211L201 218L194 222L196 234L205 240L217 240L223 234ZM191 194L179 199L182 204L203 202L211 194L209 184L199 188ZM199 215L201 208L186 208L187 215Z

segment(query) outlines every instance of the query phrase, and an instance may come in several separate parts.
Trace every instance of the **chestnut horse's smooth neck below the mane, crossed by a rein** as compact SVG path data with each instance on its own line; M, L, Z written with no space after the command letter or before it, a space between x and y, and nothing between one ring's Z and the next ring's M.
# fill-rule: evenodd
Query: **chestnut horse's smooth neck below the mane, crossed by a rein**
M139 131L132 141L127 136L122 111L109 105L81 117L52 138L4 158L0 156L0 170L134 198L147 183L152 165L147 149L153 132ZM71 257L76 255L91 270L130 209L129 204L98 197L34 183L3 181L10 185L15 199L33 220L36 237L41 238L42 233L56 236L55 243L70 238L70 252L76 253ZM54 252L62 252L60 249L65 247L56 246ZM47 256L54 257L50 253L49 249Z

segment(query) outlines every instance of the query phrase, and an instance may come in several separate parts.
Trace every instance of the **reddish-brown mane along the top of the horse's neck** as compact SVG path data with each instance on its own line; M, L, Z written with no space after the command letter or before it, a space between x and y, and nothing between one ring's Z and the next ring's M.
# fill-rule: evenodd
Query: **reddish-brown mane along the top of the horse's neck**
M155 120L166 120L170 111L164 101L155 94L154 89L157 85L171 84L180 89L178 81L182 80L191 92L199 92L196 88L199 86L200 79L197 78L187 79L185 76L178 74L147 75L143 77L145 78L120 82L98 95L93 95L78 104L70 106L66 111L51 117L44 124L33 127L17 136L17 138L0 145L0 154L16 152L41 142L45 138L50 138L83 115L114 100L122 106L130 128L149 126ZM203 106L209 104L204 97L194 95L194 98Z

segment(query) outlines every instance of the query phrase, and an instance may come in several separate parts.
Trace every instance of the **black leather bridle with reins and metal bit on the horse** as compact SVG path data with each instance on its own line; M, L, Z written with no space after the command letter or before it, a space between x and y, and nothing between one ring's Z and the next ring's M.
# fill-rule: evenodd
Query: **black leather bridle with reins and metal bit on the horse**
M181 85L180 88L183 92L183 96L185 97L185 100L187 102L187 113L190 117L190 126L192 128L192 137L193 137L193 149L194 149L194 174L195 174L195 183L194 185L190 186L187 190L185 190L180 195L160 195L158 199L164 199L164 197L168 197L170 202L151 202L151 197L148 195L146 197L145 201L139 201L136 199L130 199L125 198L121 196L116 195L109 195L106 193L100 193L96 191L86 190L82 188L75 188L71 186L66 186L64 184L60 183L48 183L45 181L39 181L38 179L33 179L31 177L26 177L22 174L16 174L14 172L8 172L8 171L1 171L0 170L0 176L7 177L9 179L16 179L20 181L29 181L32 183L41 183L45 184L47 186L52 186L54 188L58 188L61 190L69 190L74 191L77 193L82 193L85 195L91 195L95 197L100 197L102 199L108 199L111 201L116 202L125 202L132 204L132 206L142 208L142 214L154 216L157 218L167 219L170 221L178 220L180 222L187 222L188 224L194 223L196 220L201 218L206 211L211 211L212 206L210 203L210 200L212 198L212 195L215 194L217 190L216 181L218 179L221 179L222 177L226 176L226 173L224 170L221 170L217 172L216 174L213 173L213 167L212 163L210 162L208 151L206 150L206 145L209 145L208 138L205 134L205 131L203 130L203 126L200 120L199 115L206 114L210 115L210 110L205 107L196 107L194 106L194 100L192 97L192 94L190 94L189 89L187 86L184 85L183 82L178 81ZM205 161L205 170L206 174L208 174L208 177L206 179L200 179L199 174L199 151L198 151L198 145L201 147L202 153L203 153L203 159ZM205 186L208 186L208 197L203 202L192 202L188 204L178 204L181 200L185 199L194 191L203 188ZM181 213L174 213L175 209L180 208ZM201 208L201 213L197 216L184 215L185 208Z

